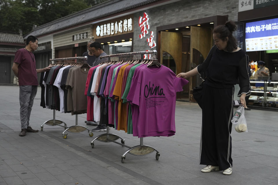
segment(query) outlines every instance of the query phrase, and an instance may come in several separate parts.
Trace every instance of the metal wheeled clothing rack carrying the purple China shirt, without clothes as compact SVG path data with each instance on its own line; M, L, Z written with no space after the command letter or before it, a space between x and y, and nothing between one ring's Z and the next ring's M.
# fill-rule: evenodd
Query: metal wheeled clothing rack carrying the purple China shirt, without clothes
M112 55L101 56L100 58L101 59L102 58L108 58L108 61L109 61L111 59L111 57L140 55L139 59L143 60L145 54L152 54L152 55L156 56L157 51L154 50L154 51L139 51L139 52L131 52L131 53L119 53L119 54L112 54ZM130 59L130 58L127 57L126 59ZM113 60L115 60L115 59L113 59ZM116 60L122 60L122 59L118 58ZM154 57L153 60L157 60L156 57ZM116 141L118 139L121 139L121 143ZM94 141L95 140L98 140L98 141L101 141L101 142L104 142L104 143L113 142L113 143L116 143L116 144L121 145L123 147L127 147L128 150L125 151L125 153L123 153L123 155L121 156L121 162L122 163L125 162L125 158L126 158L126 154L127 153L130 153L130 154L135 155L135 156L146 156L146 155L151 154L154 151L156 151L156 160L158 160L159 156L160 156L160 153L155 148L153 148L153 147L151 147L149 145L144 145L143 138L140 138L140 145L136 145L136 146L133 146L133 147L129 147L129 146L125 145L125 139L122 139L120 136L118 136L116 134L110 134L109 133L109 126L108 125L107 125L106 134L101 134L101 135L95 137L91 141L92 148L94 148Z

